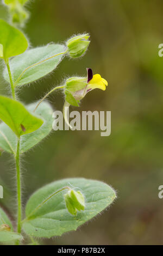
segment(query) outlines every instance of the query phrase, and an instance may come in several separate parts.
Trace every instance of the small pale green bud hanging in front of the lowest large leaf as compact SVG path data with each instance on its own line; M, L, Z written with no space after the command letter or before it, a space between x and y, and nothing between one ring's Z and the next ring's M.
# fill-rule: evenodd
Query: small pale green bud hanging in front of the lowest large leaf
M72 215L77 214L77 210L85 209L84 196L80 191L70 190L65 194L66 208Z

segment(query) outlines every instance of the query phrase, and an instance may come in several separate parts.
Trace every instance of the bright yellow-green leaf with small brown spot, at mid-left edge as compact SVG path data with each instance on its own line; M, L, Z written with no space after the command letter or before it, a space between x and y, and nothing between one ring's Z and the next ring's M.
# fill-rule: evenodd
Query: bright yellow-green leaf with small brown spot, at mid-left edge
M22 103L5 96L0 96L0 119L18 137L34 132L43 124L43 121L30 114Z

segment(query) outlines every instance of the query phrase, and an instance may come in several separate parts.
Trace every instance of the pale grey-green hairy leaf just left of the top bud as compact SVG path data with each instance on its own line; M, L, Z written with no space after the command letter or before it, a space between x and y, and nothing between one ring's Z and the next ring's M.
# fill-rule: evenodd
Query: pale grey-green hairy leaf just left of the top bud
M64 51L64 45L48 44L30 49L20 56L12 58L10 60L10 68L15 86L22 86L23 84L34 82L49 72L52 72L60 63L63 54L53 58L51 57ZM9 82L7 68L4 69L3 75L5 80Z

